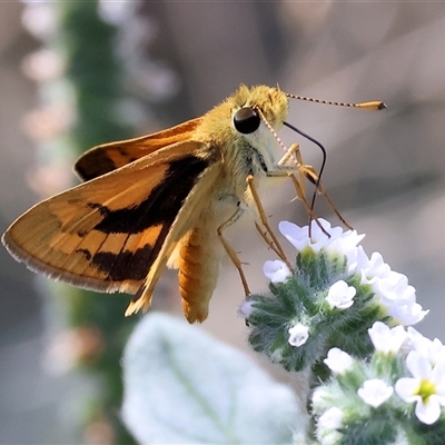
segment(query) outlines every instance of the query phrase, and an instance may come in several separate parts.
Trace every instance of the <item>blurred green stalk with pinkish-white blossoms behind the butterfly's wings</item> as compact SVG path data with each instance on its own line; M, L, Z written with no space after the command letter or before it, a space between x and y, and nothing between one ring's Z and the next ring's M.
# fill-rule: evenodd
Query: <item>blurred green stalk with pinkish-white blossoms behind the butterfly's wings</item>
M68 186L67 158L71 161L95 145L131 137L141 116L140 110L128 112L129 72L117 51L122 29L111 22L112 17L108 21L101 17L106 12L101 6L55 2L24 9L24 26L43 42L23 63L38 82L41 99L40 108L24 122L38 149L40 165L31 181L41 195ZM132 12L123 14L127 22L121 28L131 26ZM62 370L75 367L96 386L82 395L82 418L73 422L83 429L87 443L134 443L119 419L120 358L136 322L123 317L127 299L59 284L49 288L55 296L50 313L67 320L65 333L53 338L49 367L60 370L61 364L68 364Z

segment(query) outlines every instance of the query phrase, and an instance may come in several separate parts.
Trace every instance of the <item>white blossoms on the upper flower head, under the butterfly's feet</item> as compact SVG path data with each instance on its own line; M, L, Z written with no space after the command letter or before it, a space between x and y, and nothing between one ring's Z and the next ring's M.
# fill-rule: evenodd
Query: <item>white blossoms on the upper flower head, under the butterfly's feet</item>
M362 285L370 286L376 303L384 314L393 317L393 324L415 325L428 313L416 303L415 288L408 285L405 275L392 270L379 253L374 253L370 258L366 255L358 245L365 235L358 235L356 230L344 231L342 227L332 227L323 218L319 218L318 222L312 221L310 237L308 226L299 227L293 222L281 221L278 227L283 236L299 253L312 249L314 253L324 250L327 254L345 256L347 273L357 274ZM286 283L291 277L291 271L280 260L266 261L264 273L274 284ZM330 308L347 309L354 304L355 294L354 287L344 280L338 280L332 285L326 300Z

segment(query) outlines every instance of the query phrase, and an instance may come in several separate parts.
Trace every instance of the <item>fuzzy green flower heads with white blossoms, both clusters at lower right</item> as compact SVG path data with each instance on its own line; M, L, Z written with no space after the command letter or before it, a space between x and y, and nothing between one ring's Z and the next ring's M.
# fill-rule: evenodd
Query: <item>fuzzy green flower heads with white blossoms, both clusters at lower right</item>
M318 443L372 443L379 432L385 444L412 435L421 442L409 443L436 444L422 435L425 425L434 424L432 434L445 425L445 346L409 326L428 312L406 276L380 254L369 257L356 230L325 219L310 230L281 221L279 230L298 251L296 271L267 261L270 294L254 295L241 313L255 350L324 382L312 396ZM314 366L322 360L325 368Z

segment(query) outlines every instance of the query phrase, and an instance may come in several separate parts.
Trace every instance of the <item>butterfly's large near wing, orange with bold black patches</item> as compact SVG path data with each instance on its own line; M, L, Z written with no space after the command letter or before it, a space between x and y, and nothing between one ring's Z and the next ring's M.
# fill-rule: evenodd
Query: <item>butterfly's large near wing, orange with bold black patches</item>
M174 248L165 246L172 227L184 226L178 234L187 229L188 219L178 222L177 216L209 168L196 155L199 147L172 145L49 198L16 220L3 243L17 259L52 278L136 293L159 253Z

